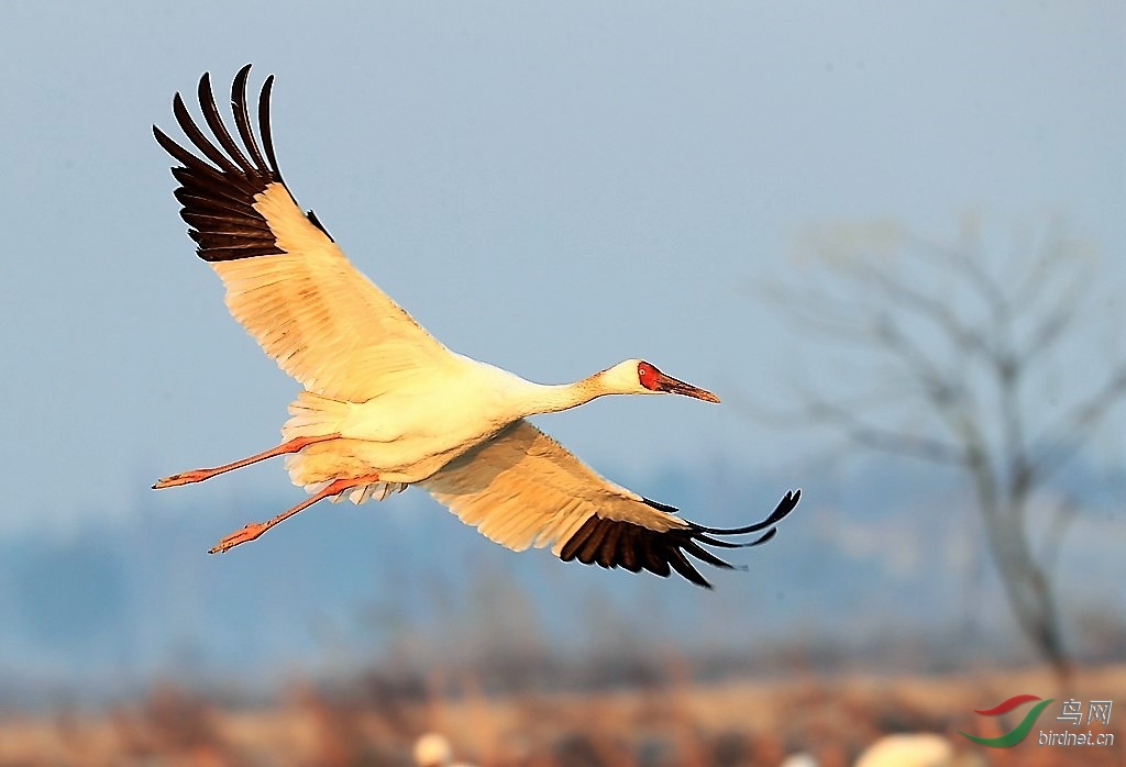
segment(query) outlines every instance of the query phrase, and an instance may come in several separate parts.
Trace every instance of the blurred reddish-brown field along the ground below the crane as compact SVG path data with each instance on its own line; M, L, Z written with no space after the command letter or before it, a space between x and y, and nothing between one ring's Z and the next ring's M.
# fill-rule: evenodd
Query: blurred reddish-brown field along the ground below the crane
M681 677L687 677L681 674ZM0 765L410 765L414 739L445 733L459 759L495 767L742 767L807 751L822 767L849 765L883 733L932 731L980 765L1120 765L1111 747L1042 747L1038 729L1064 729L1049 706L1025 742L986 749L960 738L1011 729L1025 713L973 709L1018 693L1062 701L1114 700L1126 665L1084 669L1058 692L1046 671L832 677L692 684L677 669L643 688L485 695L474 678L434 678L391 689L358 679L348 689L295 684L270 705L224 703L163 685L97 712L0 713ZM439 694L435 691L441 691ZM1118 734L1109 727L1080 731Z

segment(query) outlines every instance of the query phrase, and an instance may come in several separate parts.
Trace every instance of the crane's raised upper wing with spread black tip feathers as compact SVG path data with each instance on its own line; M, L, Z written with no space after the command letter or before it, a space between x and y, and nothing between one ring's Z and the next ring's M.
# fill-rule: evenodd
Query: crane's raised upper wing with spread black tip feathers
M220 116L206 73L199 106L214 141L179 93L172 111L198 155L153 126L180 163L172 169L180 216L199 258L222 278L231 314L283 370L334 399L364 401L449 364L450 352L348 262L312 211L302 214L274 155L274 76L258 99L259 145L247 110L249 72L247 64L231 89L239 139Z

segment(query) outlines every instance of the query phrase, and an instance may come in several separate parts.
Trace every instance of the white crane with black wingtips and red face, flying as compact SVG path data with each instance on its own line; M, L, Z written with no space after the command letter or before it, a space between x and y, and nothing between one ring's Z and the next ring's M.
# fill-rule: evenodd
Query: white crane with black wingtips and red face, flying
M278 171L270 136L270 89L258 100L254 136L247 109L250 65L234 78L232 137L211 81L199 80L206 136L177 93L172 111L198 150L157 126L157 141L180 165L176 198L199 258L226 287L231 314L278 366L304 385L275 448L213 469L159 480L153 488L198 482L275 455L312 495L263 523L251 523L211 553L252 541L323 498L361 503L419 485L463 522L516 551L551 547L569 561L650 570L670 568L709 586L690 554L732 566L703 545L763 543L797 504L786 496L765 521L705 527L607 481L525 421L609 394L679 394L709 403L709 391L626 360L574 383L543 386L446 349L357 271L312 210L302 214ZM209 162L208 162L209 161ZM716 536L766 531L750 542Z

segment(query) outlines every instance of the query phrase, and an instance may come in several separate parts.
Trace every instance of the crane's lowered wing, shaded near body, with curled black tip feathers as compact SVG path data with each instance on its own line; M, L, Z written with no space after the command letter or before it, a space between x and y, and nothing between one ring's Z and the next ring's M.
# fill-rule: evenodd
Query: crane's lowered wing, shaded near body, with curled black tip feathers
M419 485L462 522L515 551L551 547L564 561L578 559L633 572L645 569L659 576L676 570L707 588L711 584L686 554L732 569L704 547L734 549L769 541L777 532L775 525L802 497L801 490L787 493L758 524L705 527L677 516L672 506L607 481L524 419ZM716 538L762 531L758 539L743 543Z

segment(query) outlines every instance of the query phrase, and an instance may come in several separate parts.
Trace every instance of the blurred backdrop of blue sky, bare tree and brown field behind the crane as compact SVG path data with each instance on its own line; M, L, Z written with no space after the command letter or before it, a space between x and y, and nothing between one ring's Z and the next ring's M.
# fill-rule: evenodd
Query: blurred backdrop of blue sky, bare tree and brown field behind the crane
M1079 764L956 731L1126 688L1120 3L3 16L0 764L406 765L428 730L483 765L843 765L903 730ZM420 490L205 553L302 497L277 461L149 489L275 444L296 391L151 134L247 62L298 202L452 349L721 396L536 423L707 525L801 487L748 571L516 554Z

